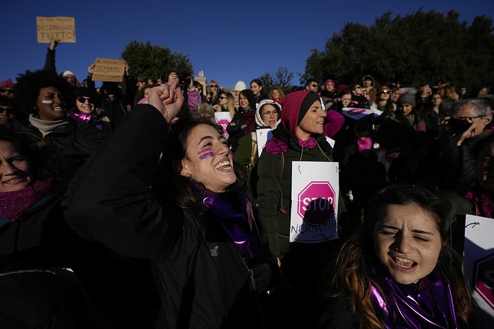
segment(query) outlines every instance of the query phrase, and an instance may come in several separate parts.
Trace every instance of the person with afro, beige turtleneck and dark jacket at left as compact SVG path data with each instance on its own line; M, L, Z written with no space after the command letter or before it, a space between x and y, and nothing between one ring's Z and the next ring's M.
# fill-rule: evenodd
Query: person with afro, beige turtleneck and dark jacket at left
M103 141L94 125L68 117L73 104L71 86L54 72L26 71L17 78L15 100L23 120L6 123L5 128L24 136L32 148L46 149L81 163Z

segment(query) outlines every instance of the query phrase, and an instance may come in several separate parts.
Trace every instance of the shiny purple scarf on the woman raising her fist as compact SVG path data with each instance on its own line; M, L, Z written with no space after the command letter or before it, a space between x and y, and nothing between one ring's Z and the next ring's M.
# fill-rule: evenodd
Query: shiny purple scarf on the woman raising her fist
M203 202L217 216L242 257L252 259L262 255L252 204L245 193L236 186L223 193L206 189Z

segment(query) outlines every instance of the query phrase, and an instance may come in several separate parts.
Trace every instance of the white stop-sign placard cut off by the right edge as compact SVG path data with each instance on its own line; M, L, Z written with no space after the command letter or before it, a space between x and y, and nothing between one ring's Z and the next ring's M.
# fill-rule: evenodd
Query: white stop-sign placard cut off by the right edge
M494 219L466 215L465 263L484 324L494 323ZM487 328L487 327L485 327Z

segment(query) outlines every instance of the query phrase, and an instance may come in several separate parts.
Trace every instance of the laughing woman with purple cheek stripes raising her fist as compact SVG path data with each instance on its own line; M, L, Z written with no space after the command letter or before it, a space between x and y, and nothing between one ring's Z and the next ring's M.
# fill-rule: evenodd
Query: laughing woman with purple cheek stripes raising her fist
M276 328L267 290L279 269L247 179L209 117L174 120L176 84L152 88L84 164L63 205L67 221L86 239L152 260L157 328Z

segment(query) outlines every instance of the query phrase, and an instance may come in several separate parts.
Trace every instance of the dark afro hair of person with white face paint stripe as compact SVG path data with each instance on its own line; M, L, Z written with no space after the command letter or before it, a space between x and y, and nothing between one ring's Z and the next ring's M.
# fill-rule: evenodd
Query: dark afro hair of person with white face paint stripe
M36 114L36 101L40 95L40 89L45 87L57 88L62 96L62 101L67 106L74 104L74 88L65 81L64 78L56 74L56 72L38 70L35 72L26 71L25 74L20 74L17 77L15 84L15 101L19 107L19 111L24 116ZM68 109L68 108L67 108Z

